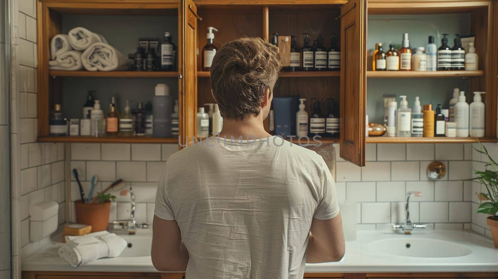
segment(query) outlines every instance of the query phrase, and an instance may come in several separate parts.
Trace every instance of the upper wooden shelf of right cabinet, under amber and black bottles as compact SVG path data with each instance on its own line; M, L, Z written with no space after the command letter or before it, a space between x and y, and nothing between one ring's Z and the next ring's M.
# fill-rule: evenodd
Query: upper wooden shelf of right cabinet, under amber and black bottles
M405 78L467 78L483 77L484 71L367 71L367 78L405 79Z

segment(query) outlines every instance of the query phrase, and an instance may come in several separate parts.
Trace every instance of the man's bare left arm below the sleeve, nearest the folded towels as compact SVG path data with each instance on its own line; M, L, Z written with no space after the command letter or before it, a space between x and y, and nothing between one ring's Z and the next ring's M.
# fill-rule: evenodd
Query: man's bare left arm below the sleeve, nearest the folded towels
M152 264L158 271L185 271L189 259L175 220L154 215L152 224Z

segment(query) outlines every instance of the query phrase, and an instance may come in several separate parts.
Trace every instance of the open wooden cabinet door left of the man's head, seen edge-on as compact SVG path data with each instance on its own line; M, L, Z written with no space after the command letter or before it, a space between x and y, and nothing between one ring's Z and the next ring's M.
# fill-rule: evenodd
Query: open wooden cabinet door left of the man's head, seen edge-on
M193 142L197 116L197 7L180 0L178 9L178 133L180 148Z

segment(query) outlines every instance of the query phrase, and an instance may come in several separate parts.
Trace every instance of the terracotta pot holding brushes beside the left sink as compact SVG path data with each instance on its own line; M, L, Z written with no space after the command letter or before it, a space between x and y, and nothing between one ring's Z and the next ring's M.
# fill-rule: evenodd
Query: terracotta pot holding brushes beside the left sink
M78 224L92 225L92 232L107 230L111 211L110 200L104 203L82 203L81 200L77 200L74 202L74 207Z

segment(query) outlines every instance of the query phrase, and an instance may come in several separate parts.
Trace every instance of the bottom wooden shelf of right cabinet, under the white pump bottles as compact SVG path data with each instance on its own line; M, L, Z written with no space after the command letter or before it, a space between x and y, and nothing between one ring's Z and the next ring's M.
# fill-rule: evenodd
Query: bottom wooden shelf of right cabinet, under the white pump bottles
M478 142L476 138L448 138L448 137L367 137L367 143L475 143ZM497 138L479 138L480 142L497 142Z

